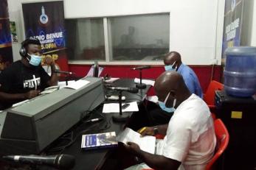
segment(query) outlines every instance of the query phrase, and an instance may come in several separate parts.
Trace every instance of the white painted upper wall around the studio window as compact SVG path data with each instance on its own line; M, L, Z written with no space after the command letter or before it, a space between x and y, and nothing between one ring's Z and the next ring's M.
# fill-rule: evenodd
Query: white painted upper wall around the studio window
M8 0L17 29L23 26L21 2L31 1ZM65 18L170 12L170 50L180 52L189 65L210 65L215 58L221 63L224 0L64 0L64 11ZM19 40L24 38L20 30Z

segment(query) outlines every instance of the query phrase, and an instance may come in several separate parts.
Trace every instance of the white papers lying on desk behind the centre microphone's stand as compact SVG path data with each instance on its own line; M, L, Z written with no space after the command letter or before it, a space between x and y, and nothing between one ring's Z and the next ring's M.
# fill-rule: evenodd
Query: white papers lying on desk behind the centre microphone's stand
M139 107L137 102L129 102L129 106L125 109L122 109L122 112L137 112ZM122 103L125 105L125 103ZM103 113L119 113L119 103L106 103L103 105Z

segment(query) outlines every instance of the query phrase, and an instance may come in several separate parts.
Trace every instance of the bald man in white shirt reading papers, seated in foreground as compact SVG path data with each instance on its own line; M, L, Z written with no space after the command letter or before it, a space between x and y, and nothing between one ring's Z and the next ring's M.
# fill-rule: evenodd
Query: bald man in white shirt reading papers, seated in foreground
M125 148L152 169L204 169L215 150L215 131L210 110L190 93L181 75L166 71L156 79L156 96L162 110L176 108L169 124L146 127L142 135L165 135L157 144L156 155L128 142ZM139 131L140 132L140 131ZM136 166L137 167L137 166ZM130 169L136 169L135 166Z

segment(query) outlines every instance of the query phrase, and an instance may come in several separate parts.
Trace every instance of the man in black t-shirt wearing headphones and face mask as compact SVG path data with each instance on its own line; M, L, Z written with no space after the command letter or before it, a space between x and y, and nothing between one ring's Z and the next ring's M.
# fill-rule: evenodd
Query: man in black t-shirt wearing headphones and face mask
M51 77L41 66L41 43L30 38L21 43L21 60L5 68L0 74L0 110L16 102L38 96L44 88L57 85L58 75L51 57L45 63L51 66Z

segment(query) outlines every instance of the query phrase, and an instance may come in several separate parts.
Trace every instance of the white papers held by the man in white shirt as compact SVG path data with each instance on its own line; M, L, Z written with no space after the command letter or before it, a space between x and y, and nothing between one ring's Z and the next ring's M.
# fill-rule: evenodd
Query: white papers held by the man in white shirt
M138 132L135 132L128 127L126 127L125 130L117 136L117 141L122 142L123 144L127 144L127 142L131 141L138 144L142 151L149 152L151 154L155 153L156 137L151 135L145 135L142 137Z

